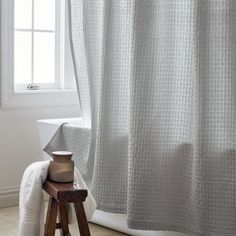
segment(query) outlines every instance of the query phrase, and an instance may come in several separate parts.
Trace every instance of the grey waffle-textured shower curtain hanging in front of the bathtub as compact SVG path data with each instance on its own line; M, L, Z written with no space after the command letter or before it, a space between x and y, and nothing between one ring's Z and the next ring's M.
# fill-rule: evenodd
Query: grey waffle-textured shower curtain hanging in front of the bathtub
M69 0L98 208L236 235L236 1Z

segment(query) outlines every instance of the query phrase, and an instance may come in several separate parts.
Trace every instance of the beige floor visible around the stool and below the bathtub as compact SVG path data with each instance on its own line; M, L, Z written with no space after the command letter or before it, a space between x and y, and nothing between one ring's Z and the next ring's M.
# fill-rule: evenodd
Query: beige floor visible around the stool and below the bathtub
M0 235L17 236L18 234L19 209L18 207L9 207L0 209ZM99 225L89 224L92 236L127 236L117 231L113 231ZM70 226L71 235L79 235L77 225ZM59 236L59 232L56 236Z

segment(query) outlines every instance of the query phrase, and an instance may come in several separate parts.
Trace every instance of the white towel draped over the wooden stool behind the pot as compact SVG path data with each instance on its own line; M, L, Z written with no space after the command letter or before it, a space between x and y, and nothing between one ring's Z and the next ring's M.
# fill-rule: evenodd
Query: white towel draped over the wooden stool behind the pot
M24 172L20 187L19 236L43 236L44 234L44 199L42 184L47 178L48 167L49 161L35 162L29 165ZM76 168L74 181L81 186L81 189L87 189L81 174ZM88 190L88 197L84 202L87 219L92 218L96 207L96 202Z

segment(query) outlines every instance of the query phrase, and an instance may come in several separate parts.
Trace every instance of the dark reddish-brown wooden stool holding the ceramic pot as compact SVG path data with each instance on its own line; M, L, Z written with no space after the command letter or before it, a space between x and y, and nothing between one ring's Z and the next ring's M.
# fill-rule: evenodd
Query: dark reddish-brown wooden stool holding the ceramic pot
M67 203L74 203L75 213L81 236L90 236L83 202L88 193L79 189L73 183L56 183L49 180L43 184L43 189L50 195L44 236L54 236L55 230L60 229L61 236L70 236L68 227ZM57 212L59 210L59 223Z

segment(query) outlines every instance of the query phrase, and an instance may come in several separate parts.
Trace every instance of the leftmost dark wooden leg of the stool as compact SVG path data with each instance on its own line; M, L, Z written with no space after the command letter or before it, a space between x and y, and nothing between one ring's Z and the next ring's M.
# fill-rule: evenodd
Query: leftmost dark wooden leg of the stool
M57 223L57 209L58 209L57 201L53 197L50 197L48 202L48 212L47 212L44 236L55 235L56 223Z

